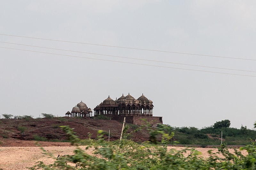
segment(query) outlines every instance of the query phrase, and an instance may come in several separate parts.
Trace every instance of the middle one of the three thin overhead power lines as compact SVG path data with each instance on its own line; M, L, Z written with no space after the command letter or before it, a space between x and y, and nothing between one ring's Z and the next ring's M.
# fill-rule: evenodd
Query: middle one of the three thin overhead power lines
M104 55L104 56L119 57L119 58L127 58L127 59L133 59L133 60L143 60L143 61L150 61L150 62L171 63L171 64L189 65L189 66L205 67L205 68L214 68L214 69L225 69L225 70L236 70L236 71L256 72L256 71L250 71L250 70L237 70L237 69L228 69L228 68L221 68L221 67L210 67L210 66L203 66L203 65L184 64L184 63L173 63L173 62L165 62L165 61L157 61L157 60L147 60L147 59L132 58L132 57L124 57L124 56L117 56L117 55L106 55L106 54L98 54L98 53L88 53L88 52L82 52L82 51L65 50L65 49L59 49L59 48L48 48L48 47L33 46L33 45L18 44L18 43L3 42L3 41L0 41L0 42L1 42L1 43L7 43L7 44L15 44L15 45L29 46L29 47L46 48L46 49L54 49L54 50L61 50L61 51L69 51L69 52L93 54L93 55ZM255 60L255 61L256 61L256 60Z

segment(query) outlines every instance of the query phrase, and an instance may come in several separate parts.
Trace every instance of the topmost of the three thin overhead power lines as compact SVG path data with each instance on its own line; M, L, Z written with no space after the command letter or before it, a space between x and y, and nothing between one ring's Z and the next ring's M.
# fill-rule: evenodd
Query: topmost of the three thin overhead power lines
M175 53L175 54L186 54L186 55L199 55L199 56L209 56L209 57L219 57L219 58L231 58L231 59L239 59L239 60L253 60L253 59L247 59L247 58L236 58L236 57L225 57L225 56L218 56L218 55L203 55L203 54L193 54L193 53L182 53L182 52L162 51L162 50L145 49L145 48L131 48L131 47L122 47L122 46L111 46L111 45L104 45L104 44L93 44L93 43L76 42L76 41L53 40L53 39L36 38L36 37L25 37L25 36L9 35L9 34L0 34L0 35L14 36L14 37L22 37L22 38L32 38L32 39L39 39L39 40L70 42L70 43L77 43L77 44L88 44L88 45L105 46L105 47L115 47L115 48L126 48L126 49L156 51L156 52L164 52L164 53Z

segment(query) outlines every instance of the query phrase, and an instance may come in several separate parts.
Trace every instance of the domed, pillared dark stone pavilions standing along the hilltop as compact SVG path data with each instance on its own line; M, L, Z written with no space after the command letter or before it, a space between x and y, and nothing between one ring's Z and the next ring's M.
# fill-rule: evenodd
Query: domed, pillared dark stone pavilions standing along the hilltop
M96 106L94 110L94 115L148 115L153 116L153 101L148 100L143 93L138 98L135 99L130 95L124 96L124 94L113 100L109 96L103 102L101 102L98 106ZM88 108L84 102L78 103L75 107L73 107L71 113L68 111L66 116L69 117L91 117L92 110Z

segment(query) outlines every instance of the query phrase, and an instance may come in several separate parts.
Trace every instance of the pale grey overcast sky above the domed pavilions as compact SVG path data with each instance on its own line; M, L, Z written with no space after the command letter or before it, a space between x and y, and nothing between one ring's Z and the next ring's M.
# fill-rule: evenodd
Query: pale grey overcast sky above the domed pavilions
M164 124L200 129L228 119L231 127L253 128L256 1L1 4L1 118L65 116L81 100L93 109L108 95L115 100L130 93L137 99L143 93L153 101L153 115L163 116Z

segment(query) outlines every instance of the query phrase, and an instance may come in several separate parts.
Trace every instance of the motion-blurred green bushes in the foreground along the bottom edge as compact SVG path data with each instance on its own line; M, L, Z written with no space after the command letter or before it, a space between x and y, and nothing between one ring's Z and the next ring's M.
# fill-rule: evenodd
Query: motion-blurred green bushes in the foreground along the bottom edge
M63 126L62 129L67 132L69 139L73 144L78 145L80 140L74 135L74 132L68 126ZM103 131L98 131L97 140L89 139L86 149L93 148L96 155L89 155L84 152L79 146L74 150L73 155L63 155L59 157L53 164L46 165L44 162L37 164L29 169L106 169L106 170L166 170L166 169L247 169L253 170L256 168L256 146L254 143L244 146L242 150L248 152L247 155L242 155L238 150L232 154L226 148L226 144L221 145L219 153L223 157L218 157L216 153L209 150L209 158L203 159L200 157L201 152L194 148L183 149L177 151L175 149L167 150L166 142L172 135L165 133L166 126L158 126L150 128L151 134L162 135L160 145L135 143L131 140L122 140L116 143L106 143L103 138ZM159 132L161 131L161 132ZM171 133L173 134L173 133ZM44 151L44 154L55 158L52 154ZM187 156L184 155L184 153ZM67 164L67 162L73 164Z

